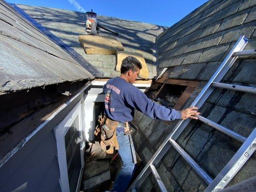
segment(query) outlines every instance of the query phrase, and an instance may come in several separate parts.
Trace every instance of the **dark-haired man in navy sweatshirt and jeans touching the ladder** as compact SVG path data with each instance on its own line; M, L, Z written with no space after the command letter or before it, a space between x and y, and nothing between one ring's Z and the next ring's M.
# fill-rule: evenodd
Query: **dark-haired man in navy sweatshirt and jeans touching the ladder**
M198 119L196 111L198 108L186 108L182 111L165 108L151 99L133 85L138 77L142 65L139 60L132 56L122 60L121 75L110 79L103 87L105 97L105 116L111 120L128 122L133 120L134 109L145 115L160 120L175 119ZM122 169L115 181L113 192L125 192L132 179L135 164L132 157L132 150L129 135L124 132L123 126L117 126L117 141L119 143L119 155L122 158Z

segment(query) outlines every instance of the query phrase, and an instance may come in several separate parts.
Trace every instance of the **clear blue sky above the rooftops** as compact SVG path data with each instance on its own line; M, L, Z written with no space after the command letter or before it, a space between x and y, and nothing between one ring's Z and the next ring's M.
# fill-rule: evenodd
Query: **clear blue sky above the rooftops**
M10 3L90 11L150 24L171 26L207 0L7 0Z

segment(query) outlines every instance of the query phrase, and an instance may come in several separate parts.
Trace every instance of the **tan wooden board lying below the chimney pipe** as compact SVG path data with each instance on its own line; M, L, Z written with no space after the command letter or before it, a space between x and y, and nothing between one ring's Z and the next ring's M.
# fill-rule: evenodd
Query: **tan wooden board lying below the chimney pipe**
M123 50L122 44L111 36L79 36L79 41L86 54L116 54L117 50Z

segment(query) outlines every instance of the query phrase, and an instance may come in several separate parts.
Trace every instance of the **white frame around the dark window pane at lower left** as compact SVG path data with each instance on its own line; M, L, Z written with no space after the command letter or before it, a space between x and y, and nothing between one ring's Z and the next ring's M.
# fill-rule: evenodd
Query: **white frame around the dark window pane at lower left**
M60 185L62 192L70 192L69 179L68 179L68 167L66 158L65 147L65 134L70 129L74 120L78 117L78 129L80 137L80 156L81 156L81 169L79 172L78 182L76 186L76 192L79 192L80 182L84 170L84 150L83 150L83 133L82 133L82 114L81 114L81 99L73 107L73 109L65 116L65 118L54 128L54 133L57 143L57 157L60 168Z

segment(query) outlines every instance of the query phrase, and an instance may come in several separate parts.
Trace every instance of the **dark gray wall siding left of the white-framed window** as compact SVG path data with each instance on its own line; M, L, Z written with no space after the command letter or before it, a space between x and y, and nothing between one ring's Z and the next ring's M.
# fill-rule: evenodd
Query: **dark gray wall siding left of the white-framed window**
M53 131L41 138L38 144L28 142L0 168L0 191L59 191L60 170L56 155Z

